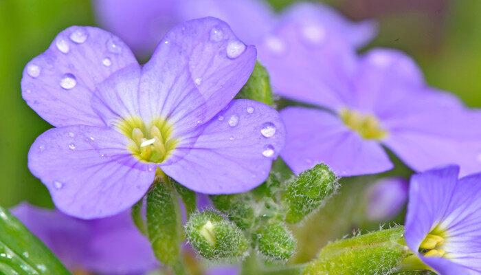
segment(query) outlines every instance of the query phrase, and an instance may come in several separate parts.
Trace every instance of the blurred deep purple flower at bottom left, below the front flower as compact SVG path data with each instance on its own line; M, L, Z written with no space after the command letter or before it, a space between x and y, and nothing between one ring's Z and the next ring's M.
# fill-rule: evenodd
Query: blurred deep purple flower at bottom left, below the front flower
M22 203L12 213L72 271L144 274L157 267L128 212L87 221Z

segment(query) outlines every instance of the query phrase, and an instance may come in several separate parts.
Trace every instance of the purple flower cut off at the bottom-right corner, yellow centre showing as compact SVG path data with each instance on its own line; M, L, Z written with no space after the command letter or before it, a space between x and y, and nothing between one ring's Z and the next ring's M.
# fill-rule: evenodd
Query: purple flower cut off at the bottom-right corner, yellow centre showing
M439 274L481 274L481 173L458 174L447 166L412 177L405 239Z

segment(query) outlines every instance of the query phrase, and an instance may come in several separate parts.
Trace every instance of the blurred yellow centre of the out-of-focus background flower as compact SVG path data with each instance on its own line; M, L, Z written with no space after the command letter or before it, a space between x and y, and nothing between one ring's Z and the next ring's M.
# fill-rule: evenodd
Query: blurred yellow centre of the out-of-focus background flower
M363 139L382 140L388 135L388 132L381 128L381 123L374 115L342 109L339 111L339 117L349 129L361 135Z

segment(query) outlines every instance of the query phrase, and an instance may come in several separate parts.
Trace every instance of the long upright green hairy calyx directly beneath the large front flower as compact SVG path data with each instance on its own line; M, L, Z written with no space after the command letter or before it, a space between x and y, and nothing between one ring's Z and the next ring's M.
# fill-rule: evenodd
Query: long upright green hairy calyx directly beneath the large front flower
M175 267L180 259L181 214L170 184L155 181L147 194L147 232L157 259Z

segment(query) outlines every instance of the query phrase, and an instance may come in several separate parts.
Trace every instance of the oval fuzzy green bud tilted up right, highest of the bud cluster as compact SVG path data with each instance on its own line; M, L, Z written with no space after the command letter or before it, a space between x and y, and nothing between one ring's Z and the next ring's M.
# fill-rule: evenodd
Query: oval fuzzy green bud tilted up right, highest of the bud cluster
M339 188L337 177L326 166L317 164L295 177L283 194L283 201L287 208L286 221L298 223L308 214L322 206Z

